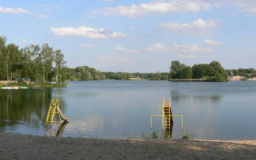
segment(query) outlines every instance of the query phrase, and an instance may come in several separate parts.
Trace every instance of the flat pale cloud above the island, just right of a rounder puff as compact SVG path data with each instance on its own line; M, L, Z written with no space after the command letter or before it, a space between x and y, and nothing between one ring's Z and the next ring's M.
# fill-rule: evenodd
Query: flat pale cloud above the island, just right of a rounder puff
M197 45L178 45L174 44L172 47L170 47L170 50L178 51L182 53L191 53L191 52L213 52L213 50L208 48L201 48Z

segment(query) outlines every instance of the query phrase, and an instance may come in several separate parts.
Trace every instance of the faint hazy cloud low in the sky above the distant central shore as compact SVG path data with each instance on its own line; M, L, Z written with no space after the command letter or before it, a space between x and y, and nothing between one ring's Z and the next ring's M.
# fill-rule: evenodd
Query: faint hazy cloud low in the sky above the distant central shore
M135 62L131 57L118 57L118 56L100 56L95 58L95 61L98 61L106 66L116 66L118 64L123 64L123 63L130 63L130 62Z

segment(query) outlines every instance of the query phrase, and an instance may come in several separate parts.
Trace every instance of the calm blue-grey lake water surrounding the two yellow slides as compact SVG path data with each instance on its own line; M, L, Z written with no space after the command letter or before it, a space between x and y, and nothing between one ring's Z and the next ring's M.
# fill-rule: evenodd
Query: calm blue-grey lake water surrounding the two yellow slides
M256 81L73 81L67 88L0 89L0 132L58 134L60 123L47 130L45 121L51 99L59 98L70 118L63 137L141 138L169 97L172 114L184 115L183 133L256 139ZM174 120L172 138L180 138L181 118ZM161 117L153 117L153 130L162 130Z

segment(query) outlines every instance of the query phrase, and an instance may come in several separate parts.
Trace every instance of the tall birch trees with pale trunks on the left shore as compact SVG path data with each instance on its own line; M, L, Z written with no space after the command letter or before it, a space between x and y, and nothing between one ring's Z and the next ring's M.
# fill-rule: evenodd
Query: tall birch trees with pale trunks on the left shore
M66 61L61 50L53 50L47 43L42 45L29 45L19 49L14 43L6 45L6 37L0 37L0 79L46 81L59 75Z

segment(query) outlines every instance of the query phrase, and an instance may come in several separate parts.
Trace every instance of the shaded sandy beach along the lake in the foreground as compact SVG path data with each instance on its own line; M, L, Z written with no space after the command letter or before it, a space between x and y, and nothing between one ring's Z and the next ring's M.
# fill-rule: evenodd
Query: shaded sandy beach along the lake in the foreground
M0 159L256 159L256 140L119 140L0 133Z

